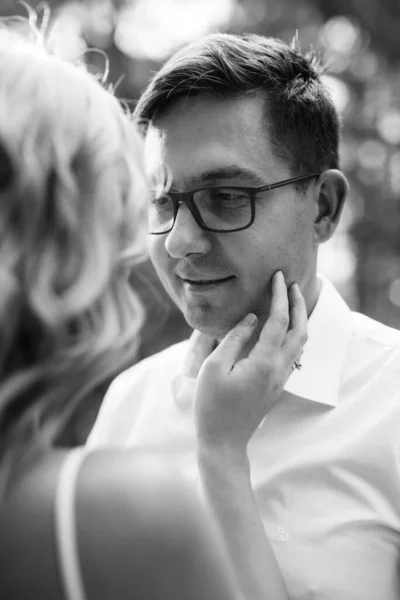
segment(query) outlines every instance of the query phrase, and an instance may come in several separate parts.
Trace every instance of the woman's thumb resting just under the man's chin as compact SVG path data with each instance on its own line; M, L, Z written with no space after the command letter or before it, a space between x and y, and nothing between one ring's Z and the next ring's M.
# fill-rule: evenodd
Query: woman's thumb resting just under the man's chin
M226 334L212 354L212 359L218 362L227 373L232 370L244 349L249 343L257 325L257 317L253 313L246 315L229 333Z

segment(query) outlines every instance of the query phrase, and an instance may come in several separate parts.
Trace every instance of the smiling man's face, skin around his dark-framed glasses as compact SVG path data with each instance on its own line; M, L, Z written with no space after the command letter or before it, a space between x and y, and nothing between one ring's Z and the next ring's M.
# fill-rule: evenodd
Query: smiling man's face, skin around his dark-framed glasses
M291 177L273 153L263 113L258 96L173 104L150 133L172 170L173 189L259 187ZM299 195L294 185L261 192L253 225L233 233L201 229L181 204L173 230L150 236L150 255L189 325L220 338L249 312L265 321L279 269L307 300L315 286L314 218L312 191Z

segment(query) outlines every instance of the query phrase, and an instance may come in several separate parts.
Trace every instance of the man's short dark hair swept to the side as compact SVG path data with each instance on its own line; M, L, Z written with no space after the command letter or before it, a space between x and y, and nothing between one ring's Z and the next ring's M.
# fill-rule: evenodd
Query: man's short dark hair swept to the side
M277 157L293 175L338 168L339 119L313 52L259 35L217 33L185 46L149 83L135 114L148 122L177 99L265 96L266 124Z

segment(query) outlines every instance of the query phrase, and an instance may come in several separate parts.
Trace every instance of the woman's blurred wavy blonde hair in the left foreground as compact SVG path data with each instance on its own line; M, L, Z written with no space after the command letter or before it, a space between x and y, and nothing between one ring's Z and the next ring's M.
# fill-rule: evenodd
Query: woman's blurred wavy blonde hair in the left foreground
M0 25L0 451L53 439L134 360L143 310L143 141L118 100L43 37Z

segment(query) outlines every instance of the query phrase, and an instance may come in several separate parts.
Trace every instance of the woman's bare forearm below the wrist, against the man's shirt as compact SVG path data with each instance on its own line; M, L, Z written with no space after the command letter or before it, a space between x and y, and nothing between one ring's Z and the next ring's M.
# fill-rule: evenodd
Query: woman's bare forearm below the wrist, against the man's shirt
M246 452L199 444L198 466L208 507L246 600L288 600L251 488Z

